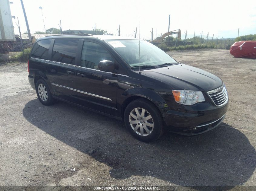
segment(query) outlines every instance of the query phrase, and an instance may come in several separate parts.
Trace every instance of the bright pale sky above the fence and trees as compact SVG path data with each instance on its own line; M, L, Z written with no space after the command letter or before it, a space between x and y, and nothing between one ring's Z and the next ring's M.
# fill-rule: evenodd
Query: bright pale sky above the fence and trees
M27 31L20 0L10 0L11 14L15 34L18 34L17 17L21 32ZM209 38L232 38L256 33L256 3L255 0L204 0L204 1L161 1L161 0L23 0L31 33L44 31L45 28L62 30L92 30L96 28L107 30L108 33L134 37L137 27L137 37L151 39L168 31L168 15L171 15L170 31L181 30L181 39L199 36ZM43 7L42 11L39 7ZM118 30L117 30L118 29ZM150 32L151 31L151 32Z

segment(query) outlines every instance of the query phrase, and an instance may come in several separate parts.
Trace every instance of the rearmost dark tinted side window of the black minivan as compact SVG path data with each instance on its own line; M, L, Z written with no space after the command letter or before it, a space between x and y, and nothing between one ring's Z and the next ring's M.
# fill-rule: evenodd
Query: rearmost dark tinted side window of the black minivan
M48 59L48 51L50 47L51 39L47 40L40 40L35 43L33 47L31 57L41 58L41 59Z

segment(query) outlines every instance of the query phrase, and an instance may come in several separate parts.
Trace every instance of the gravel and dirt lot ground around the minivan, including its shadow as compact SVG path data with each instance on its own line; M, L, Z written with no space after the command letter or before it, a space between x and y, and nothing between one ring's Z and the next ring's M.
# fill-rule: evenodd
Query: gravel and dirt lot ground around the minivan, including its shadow
M1 64L0 185L256 186L256 59L168 53L222 78L230 101L220 126L143 143L118 120L61 101L42 105L27 64Z

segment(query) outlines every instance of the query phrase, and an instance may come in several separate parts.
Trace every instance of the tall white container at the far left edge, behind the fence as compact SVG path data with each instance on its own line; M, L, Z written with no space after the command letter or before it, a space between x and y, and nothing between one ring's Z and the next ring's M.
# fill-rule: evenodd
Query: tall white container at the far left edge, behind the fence
M0 40L16 40L9 0L0 0Z

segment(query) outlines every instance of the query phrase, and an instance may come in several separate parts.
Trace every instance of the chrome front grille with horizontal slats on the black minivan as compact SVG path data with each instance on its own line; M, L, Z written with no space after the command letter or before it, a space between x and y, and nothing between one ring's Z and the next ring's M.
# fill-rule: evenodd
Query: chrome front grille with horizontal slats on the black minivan
M228 92L224 84L220 88L208 91L208 94L216 106L222 106L228 102Z

